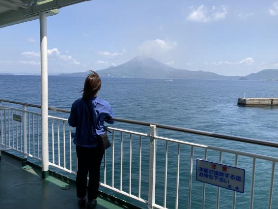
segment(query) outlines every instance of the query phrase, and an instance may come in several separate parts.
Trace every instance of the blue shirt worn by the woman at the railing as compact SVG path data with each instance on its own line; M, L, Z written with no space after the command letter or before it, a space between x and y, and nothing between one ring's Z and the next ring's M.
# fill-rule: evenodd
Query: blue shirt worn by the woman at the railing
M87 148L97 147L97 135L104 134L104 121L113 123L109 118L113 118L114 114L109 102L98 97L93 97L89 102L91 111L93 113L94 127L91 127L90 112L87 108L85 100L77 99L71 107L69 125L76 127L74 136L74 144ZM91 131L91 133L90 133Z

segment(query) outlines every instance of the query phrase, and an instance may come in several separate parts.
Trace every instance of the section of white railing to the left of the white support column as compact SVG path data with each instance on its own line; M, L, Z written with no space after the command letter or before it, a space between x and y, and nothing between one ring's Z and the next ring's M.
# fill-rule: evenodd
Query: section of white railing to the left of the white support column
M17 118L18 120L15 120ZM0 107L1 150L14 150L41 160L40 114L23 109Z

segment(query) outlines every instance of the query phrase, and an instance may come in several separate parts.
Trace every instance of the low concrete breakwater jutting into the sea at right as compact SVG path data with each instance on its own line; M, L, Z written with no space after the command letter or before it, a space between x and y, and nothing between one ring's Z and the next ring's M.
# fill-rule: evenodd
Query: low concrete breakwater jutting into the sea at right
M238 98L241 106L274 106L278 105L278 98Z

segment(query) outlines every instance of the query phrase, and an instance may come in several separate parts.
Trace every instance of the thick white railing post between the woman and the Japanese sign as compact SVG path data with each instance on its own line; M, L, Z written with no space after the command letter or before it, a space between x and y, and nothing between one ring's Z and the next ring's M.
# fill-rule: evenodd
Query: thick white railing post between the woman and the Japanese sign
M149 195L148 209L153 209L155 204L155 169L156 169L156 149L155 149L156 126L150 125L150 162L149 162Z

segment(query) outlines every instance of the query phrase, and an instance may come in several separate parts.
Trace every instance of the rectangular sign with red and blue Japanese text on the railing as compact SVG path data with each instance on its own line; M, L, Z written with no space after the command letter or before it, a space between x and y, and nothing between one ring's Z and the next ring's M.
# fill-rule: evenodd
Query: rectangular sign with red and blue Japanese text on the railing
M196 180L244 193L245 170L197 159Z

